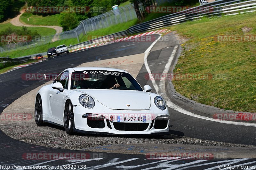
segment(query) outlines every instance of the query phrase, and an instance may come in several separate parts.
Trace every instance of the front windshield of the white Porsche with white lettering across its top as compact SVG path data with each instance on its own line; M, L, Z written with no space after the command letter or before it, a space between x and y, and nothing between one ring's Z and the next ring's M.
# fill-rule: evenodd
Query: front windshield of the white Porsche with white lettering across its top
M131 74L104 70L73 72L71 76L71 89L120 89L143 91Z

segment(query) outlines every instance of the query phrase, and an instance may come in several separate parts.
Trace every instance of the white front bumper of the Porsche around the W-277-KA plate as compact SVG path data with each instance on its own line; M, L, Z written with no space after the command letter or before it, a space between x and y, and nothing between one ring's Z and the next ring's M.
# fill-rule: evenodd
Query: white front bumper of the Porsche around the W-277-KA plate
M103 111L102 111L103 110ZM129 135L164 135L170 131L170 117L159 119L163 115L169 115L168 107L165 110L150 108L149 110L115 110L108 108L86 109L82 105L73 107L75 131L93 134L129 134ZM86 113L92 117L83 118ZM102 115L104 117L94 117ZM113 117L111 120L111 116ZM126 122L118 122L120 117L127 117ZM138 122L127 121L128 117L143 117L146 119ZM134 120L134 119L133 119Z

